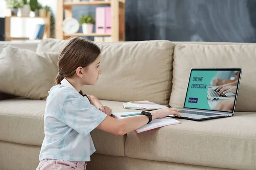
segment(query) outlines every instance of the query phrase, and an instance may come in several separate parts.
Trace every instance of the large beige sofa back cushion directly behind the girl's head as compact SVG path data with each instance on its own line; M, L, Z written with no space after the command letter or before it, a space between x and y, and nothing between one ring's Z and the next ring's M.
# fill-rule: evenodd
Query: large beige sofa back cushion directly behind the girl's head
M37 52L59 52L64 43L65 40L42 40ZM95 86L83 87L84 93L104 100L169 103L174 48L172 42L157 40L96 44L102 49L102 74Z

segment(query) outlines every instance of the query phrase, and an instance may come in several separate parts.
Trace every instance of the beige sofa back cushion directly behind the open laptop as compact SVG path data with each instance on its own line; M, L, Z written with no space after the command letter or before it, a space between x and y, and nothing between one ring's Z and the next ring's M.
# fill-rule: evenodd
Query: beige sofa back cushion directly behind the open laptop
M256 111L255 44L178 44L169 105L183 108L191 68L242 68L236 111Z

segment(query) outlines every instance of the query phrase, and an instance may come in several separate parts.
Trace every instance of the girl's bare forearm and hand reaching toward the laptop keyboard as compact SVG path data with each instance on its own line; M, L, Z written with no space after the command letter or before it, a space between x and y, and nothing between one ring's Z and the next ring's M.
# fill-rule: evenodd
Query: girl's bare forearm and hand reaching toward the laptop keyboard
M180 116L177 109L174 108L163 108L156 111L150 111L150 113L152 114L152 120L164 118L171 114ZM133 116L125 119L115 119L111 116L107 116L97 128L115 135L124 135L143 127L148 123L148 119L148 116L145 115Z

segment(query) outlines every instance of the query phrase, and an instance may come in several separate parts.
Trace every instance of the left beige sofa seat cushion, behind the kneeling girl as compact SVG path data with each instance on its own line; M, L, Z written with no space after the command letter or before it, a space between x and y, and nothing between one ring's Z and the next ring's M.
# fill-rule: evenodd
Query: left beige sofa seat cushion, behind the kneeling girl
M113 112L134 111L122 108L122 102L101 101ZM7 99L0 101L0 140L41 146L44 139L45 100ZM125 156L124 136L94 129L91 132L96 153ZM38 155L39 156L39 155Z

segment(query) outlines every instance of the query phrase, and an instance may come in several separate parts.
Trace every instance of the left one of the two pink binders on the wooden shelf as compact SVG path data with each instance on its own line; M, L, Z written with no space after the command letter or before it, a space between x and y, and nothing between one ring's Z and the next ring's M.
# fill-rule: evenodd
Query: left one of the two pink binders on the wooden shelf
M96 7L95 32L97 34L105 33L105 7Z

